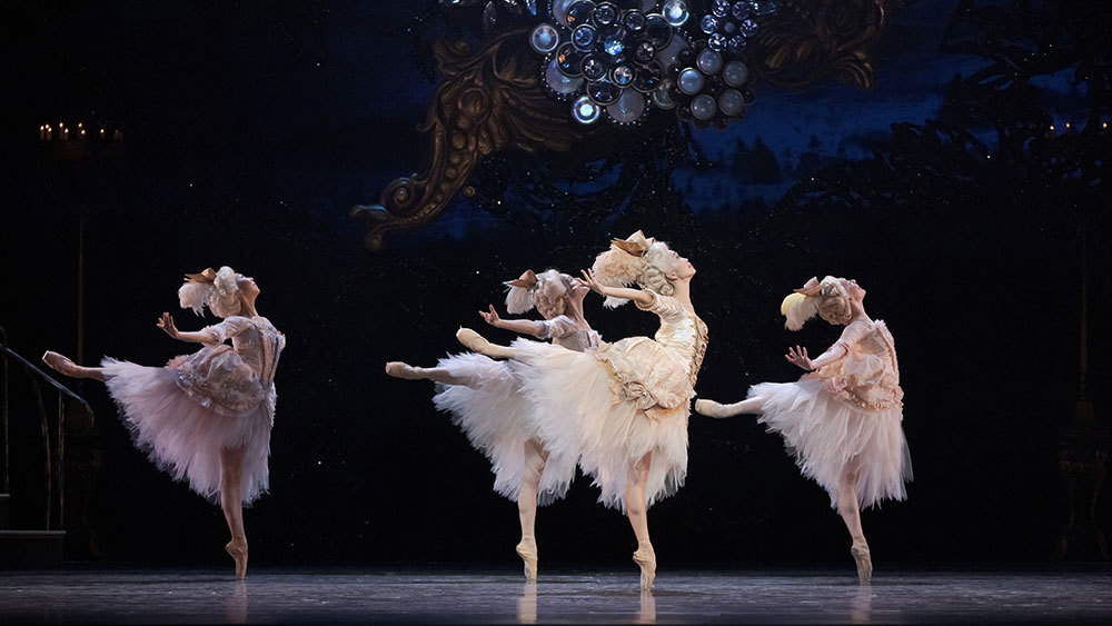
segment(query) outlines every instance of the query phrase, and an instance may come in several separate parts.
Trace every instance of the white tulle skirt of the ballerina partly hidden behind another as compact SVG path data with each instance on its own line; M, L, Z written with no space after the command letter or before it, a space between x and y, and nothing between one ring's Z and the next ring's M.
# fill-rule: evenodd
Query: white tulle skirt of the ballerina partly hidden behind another
M514 346L519 347L522 341L519 339ZM524 342L553 347L537 341ZM554 349L570 351L558 347ZM553 450L533 427L530 405L506 362L467 352L440 359L437 366L465 380L463 385L437 382L433 403L436 408L450 413L451 423L467 435L471 446L490 460L495 475L494 490L517 501L525 473L526 445L530 439L537 439L542 447L549 450L537 488L537 503L547 505L563 498L575 478L576 457Z

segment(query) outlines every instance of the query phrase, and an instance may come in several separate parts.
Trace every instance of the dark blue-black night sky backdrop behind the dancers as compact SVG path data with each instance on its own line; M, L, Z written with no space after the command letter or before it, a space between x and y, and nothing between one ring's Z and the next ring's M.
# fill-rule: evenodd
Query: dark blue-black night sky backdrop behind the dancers
M1029 4L1040 19L1023 17ZM985 7L997 11L979 13L995 16L987 26L960 19ZM1078 399L1083 231L1089 391L1109 419L1112 132L1099 127L1112 121L1112 16L1103 3L911 2L874 47L871 90L833 79L796 91L757 85L744 120L694 130L665 166L665 148L633 133L615 146L629 159L580 163L568 180L594 172L595 181L564 188L594 192L633 162L657 169L635 197L589 218L536 219L545 207L520 201L507 177L544 171L550 156L496 155L477 170L474 199L457 198L428 227L388 233L377 252L349 208L420 166L416 126L436 82L419 69L424 40L407 29L421 14L435 20L435 2L3 10L16 24L3 44L16 89L0 122L9 163L0 326L33 359L48 348L75 354L82 219L88 362L159 365L187 351L155 328L163 310L183 329L211 321L177 308L181 274L230 265L254 276L259 310L288 346L271 493L246 516L252 564L517 567L516 507L490 490L487 461L435 411L431 382L387 378L383 364L430 365L458 350L460 325L508 340L476 315L500 305L503 280L526 268L575 272L609 237L638 228L698 268L692 298L711 331L703 397L732 401L751 382L793 379L787 345L814 352L835 339L822 321L783 328L781 298L811 276L852 277L868 290L866 309L896 340L915 469L907 501L864 514L878 568L1054 555L1068 515L1059 429ZM994 24L1011 26L984 34ZM959 36L984 46L954 44ZM1041 59L1027 73L970 80L1013 59L1020 40ZM59 161L38 132L61 120L118 128L125 140ZM609 339L656 325L593 296L587 317ZM219 508L131 447L102 386L68 384L97 414L93 430L68 441L83 464L67 474L79 517L68 554L222 563ZM13 413L13 515L24 527L38 515L37 428L29 406ZM542 560L628 559L628 523L596 495L580 477L566 500L540 509ZM1105 533L1110 501L1105 494L1098 509ZM692 417L687 485L651 509L649 525L663 568L848 563L826 494L752 417Z

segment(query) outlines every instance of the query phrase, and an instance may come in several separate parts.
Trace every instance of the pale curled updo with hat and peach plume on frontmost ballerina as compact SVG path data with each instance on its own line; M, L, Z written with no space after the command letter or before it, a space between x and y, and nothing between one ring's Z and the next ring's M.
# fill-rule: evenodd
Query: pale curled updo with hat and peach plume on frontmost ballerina
M636 284L661 296L672 296L676 288L667 278L672 269L672 249L663 241L646 238L642 231L626 239L615 239L610 249L595 257L590 270L599 282L608 287L628 287ZM619 307L629 300L607 297L604 306Z

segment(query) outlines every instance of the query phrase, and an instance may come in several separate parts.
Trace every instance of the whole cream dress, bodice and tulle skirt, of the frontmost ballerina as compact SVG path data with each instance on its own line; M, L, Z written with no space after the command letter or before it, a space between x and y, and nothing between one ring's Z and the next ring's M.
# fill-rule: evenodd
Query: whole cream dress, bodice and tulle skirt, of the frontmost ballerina
M523 350L510 361L548 449L578 458L602 489L599 501L622 510L629 468L647 453L647 505L683 486L688 403L706 349L706 327L674 298L655 296L646 308L662 319L655 340L629 337L592 352Z

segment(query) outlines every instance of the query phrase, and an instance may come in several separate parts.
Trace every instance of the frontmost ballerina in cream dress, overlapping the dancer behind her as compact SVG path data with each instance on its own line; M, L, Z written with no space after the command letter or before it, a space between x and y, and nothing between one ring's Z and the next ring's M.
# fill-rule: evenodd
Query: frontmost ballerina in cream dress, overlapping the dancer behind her
M495 346L466 328L457 337L477 352L513 359L534 428L548 449L577 457L602 488L599 501L629 516L637 538L634 560L647 589L656 576L647 509L684 483L688 404L706 352L706 325L691 301L695 267L637 231L615 240L583 275L608 306L633 300L658 315L655 339L628 337L573 352ZM620 287L634 282L642 289Z

